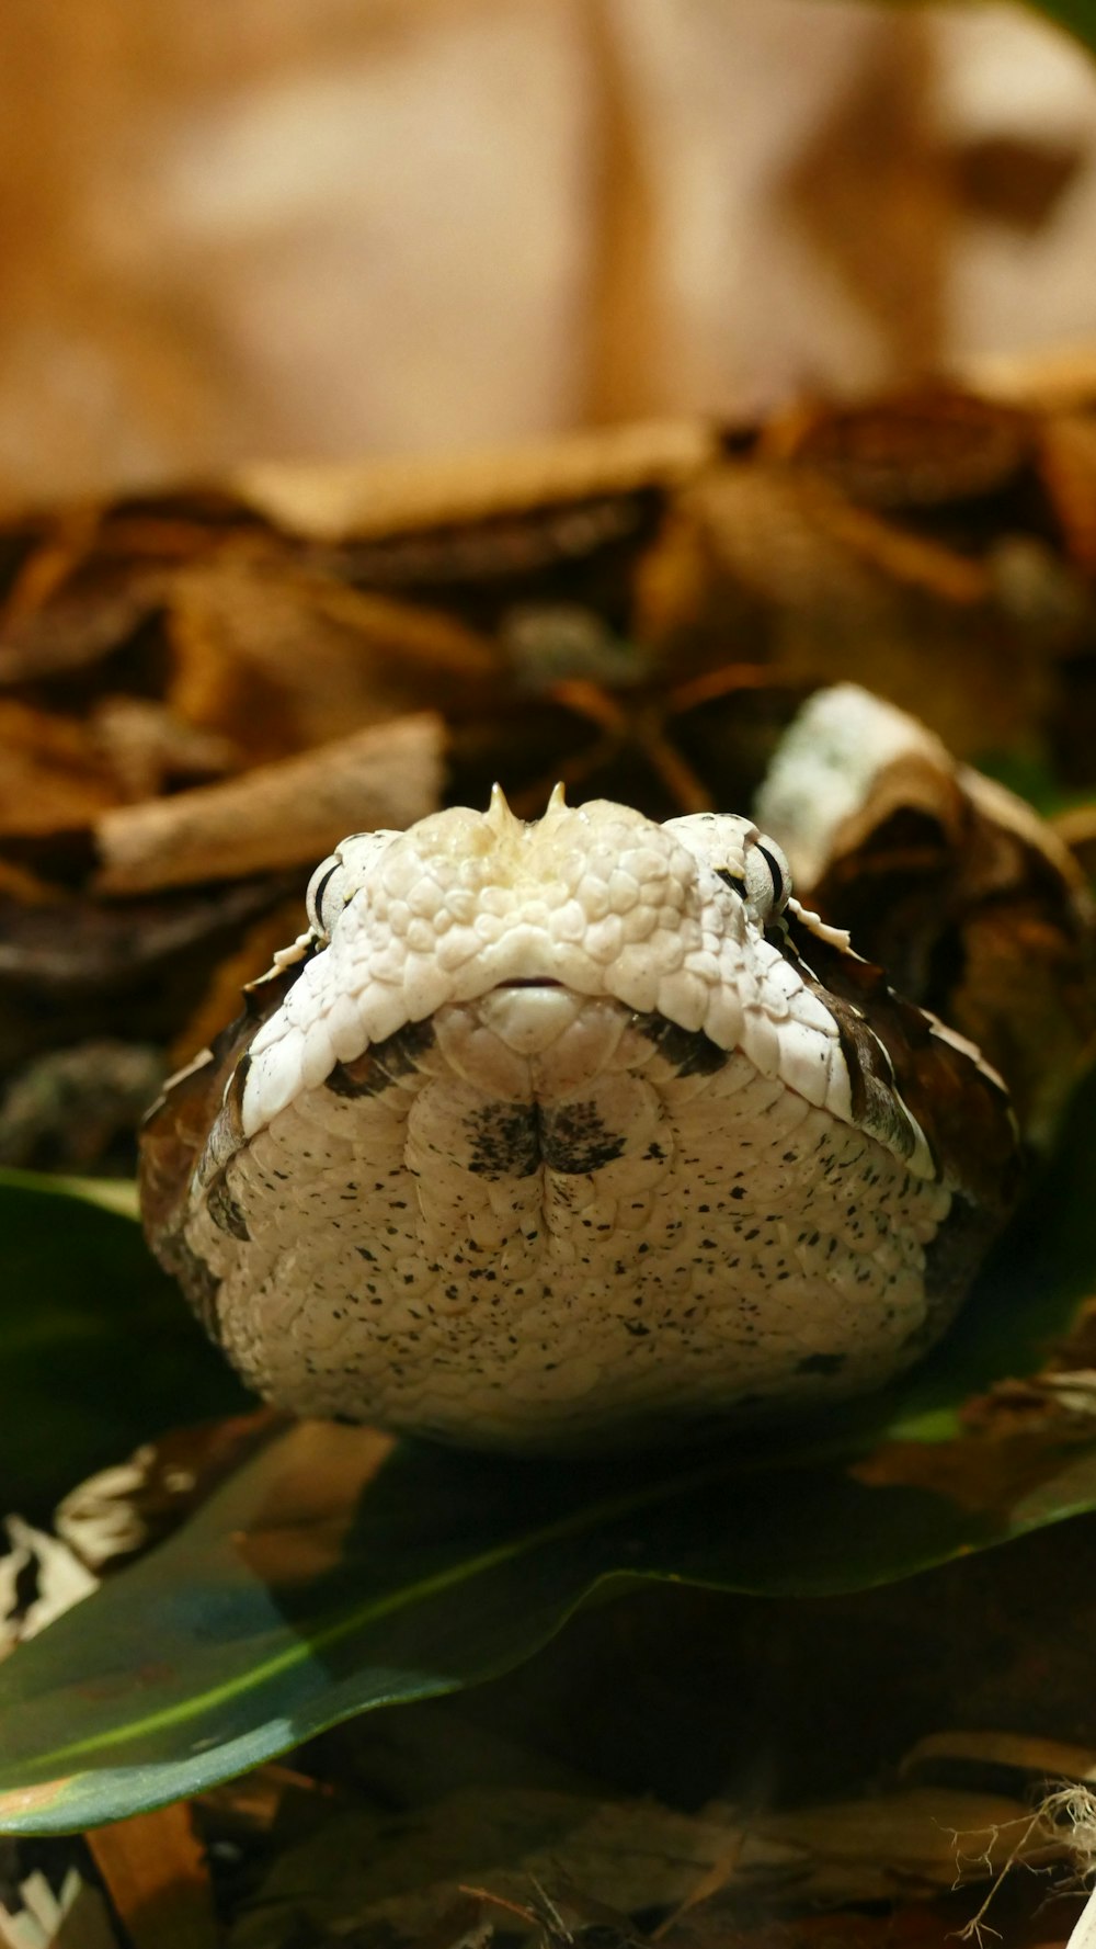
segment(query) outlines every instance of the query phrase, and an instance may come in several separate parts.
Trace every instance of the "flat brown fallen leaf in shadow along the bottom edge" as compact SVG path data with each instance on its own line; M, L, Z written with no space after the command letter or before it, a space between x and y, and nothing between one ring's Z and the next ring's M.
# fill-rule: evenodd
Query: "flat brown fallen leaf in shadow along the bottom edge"
M804 1910L931 1898L956 1883L960 1853L969 1877L987 1881L1020 1840L1024 1861L1067 1857L1051 1830L1032 1826L1022 1801L938 1787L759 1815L465 1789L407 1815L366 1805L333 1813L271 1863L228 1941L230 1949L276 1949L292 1939L290 1926L323 1943L382 1930L389 1939L417 1937L461 1889L526 1912L537 1889L553 1902L559 1891L557 1906L572 1926L594 1904L617 1918L660 1908L685 1914L703 1887L689 1922L705 1916L722 1935L761 1902ZM572 1935L580 1941L582 1928ZM668 1931L668 1939L677 1935Z

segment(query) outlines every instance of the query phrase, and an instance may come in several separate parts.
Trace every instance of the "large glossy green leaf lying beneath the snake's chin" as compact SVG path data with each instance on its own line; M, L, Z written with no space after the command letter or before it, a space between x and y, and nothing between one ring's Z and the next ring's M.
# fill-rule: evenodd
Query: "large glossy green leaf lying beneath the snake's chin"
M849 1590L1096 1507L1096 1442L958 1433L962 1399L1032 1370L1092 1284L1094 1132L1088 1089L946 1347L812 1429L598 1466L276 1434L0 1666L0 1828L119 1818L504 1670L596 1588Z

